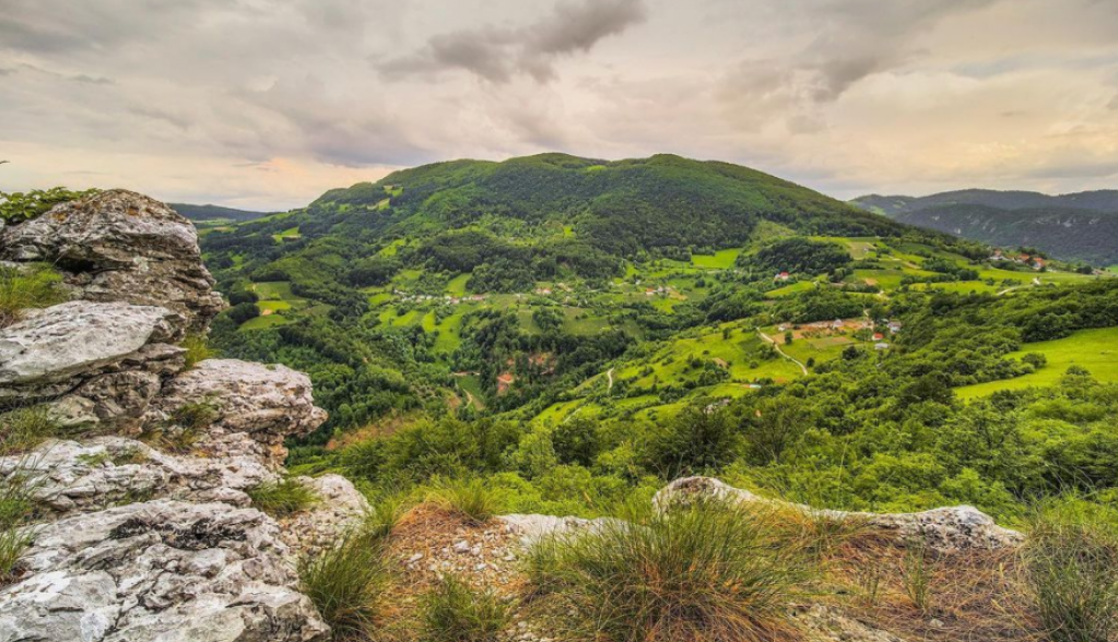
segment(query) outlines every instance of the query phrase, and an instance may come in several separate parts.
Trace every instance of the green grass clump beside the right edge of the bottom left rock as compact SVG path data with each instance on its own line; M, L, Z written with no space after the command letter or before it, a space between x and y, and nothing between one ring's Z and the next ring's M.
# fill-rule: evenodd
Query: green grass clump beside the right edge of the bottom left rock
M383 553L385 537L362 524L332 546L299 558L300 590L330 625L334 642L377 638L390 579Z

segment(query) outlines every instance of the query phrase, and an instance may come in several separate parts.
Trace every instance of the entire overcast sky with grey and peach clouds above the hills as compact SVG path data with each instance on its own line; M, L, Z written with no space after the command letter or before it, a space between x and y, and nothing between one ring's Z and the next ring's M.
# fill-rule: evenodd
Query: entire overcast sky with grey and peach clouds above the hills
M1118 1L0 0L0 190L286 209L542 151L1118 188Z

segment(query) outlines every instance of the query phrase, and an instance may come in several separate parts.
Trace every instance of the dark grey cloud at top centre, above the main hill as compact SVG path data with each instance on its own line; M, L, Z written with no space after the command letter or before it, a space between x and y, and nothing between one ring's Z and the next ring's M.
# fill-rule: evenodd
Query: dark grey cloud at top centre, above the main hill
M485 26L440 33L414 54L375 65L394 80L458 69L491 83L508 83L521 74L546 82L555 77L556 58L589 51L604 38L620 33L646 17L643 0L565 1L532 25Z

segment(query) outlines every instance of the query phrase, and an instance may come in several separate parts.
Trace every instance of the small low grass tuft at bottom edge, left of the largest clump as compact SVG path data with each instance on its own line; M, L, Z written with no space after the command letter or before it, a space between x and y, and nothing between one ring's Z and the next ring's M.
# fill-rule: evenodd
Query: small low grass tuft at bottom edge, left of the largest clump
M492 592L453 575L439 579L420 609L427 642L494 642L509 623L509 607Z

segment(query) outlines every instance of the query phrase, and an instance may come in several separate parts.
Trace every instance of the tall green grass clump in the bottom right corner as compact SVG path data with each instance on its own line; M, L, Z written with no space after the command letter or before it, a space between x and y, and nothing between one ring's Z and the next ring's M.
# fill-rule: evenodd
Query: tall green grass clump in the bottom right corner
M1118 512L1080 499L1030 517L1025 584L1051 642L1118 638Z

